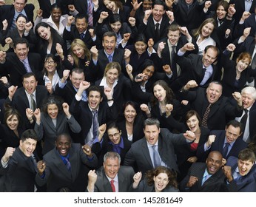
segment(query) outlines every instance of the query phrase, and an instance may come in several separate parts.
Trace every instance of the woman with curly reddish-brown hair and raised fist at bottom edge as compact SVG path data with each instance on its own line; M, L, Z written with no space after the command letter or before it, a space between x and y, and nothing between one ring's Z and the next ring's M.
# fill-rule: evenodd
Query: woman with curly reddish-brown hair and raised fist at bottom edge
M132 189L135 192L179 192L176 172L165 166L149 170L144 180L141 177L141 172L133 176Z

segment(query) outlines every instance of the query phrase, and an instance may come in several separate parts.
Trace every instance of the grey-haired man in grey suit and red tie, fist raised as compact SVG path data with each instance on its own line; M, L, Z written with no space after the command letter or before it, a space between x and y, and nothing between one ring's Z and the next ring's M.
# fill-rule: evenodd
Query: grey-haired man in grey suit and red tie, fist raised
M120 166L121 157L117 152L107 152L101 169L88 173L89 192L132 191L134 171L131 166Z

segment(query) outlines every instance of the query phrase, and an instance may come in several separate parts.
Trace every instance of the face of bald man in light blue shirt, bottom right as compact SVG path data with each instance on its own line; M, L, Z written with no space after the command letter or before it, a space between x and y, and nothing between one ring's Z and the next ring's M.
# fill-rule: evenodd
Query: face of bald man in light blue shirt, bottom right
M218 172L222 164L222 156L220 153L210 152L206 159L206 168L209 174Z

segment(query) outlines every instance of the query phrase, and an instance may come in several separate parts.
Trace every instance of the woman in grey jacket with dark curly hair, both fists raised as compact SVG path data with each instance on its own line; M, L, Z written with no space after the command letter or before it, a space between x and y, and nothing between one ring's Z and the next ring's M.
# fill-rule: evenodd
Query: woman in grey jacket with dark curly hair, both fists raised
M34 115L38 139L44 139L43 155L54 148L55 140L59 134L69 134L69 130L74 133L81 131L81 126L70 114L70 106L67 103L62 103L59 98L53 95L50 95L45 101L42 112L40 109L36 109Z

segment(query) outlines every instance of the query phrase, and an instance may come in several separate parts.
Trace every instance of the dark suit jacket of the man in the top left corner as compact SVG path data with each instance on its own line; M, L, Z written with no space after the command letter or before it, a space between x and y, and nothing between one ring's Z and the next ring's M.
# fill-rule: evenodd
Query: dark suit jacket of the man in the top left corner
M34 9L35 6L33 4L26 4L26 6L24 7L24 11L27 15L27 20L31 21L32 24L34 23ZM8 27L7 30L10 30L10 27L13 24L13 18L15 15L15 9L13 4L10 5L3 5L0 7L0 22L4 21L4 19L7 20L8 22ZM3 24L0 25L0 29L3 28Z

